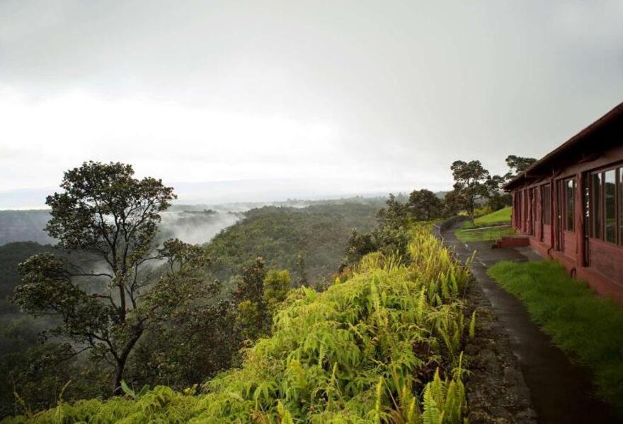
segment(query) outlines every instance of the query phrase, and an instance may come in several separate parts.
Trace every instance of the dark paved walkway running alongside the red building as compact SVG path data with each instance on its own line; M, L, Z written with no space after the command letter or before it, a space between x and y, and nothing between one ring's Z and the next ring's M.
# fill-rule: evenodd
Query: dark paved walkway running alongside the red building
M573 365L530 320L524 305L486 273L498 261L532 261L541 257L530 247L491 249L488 242L466 245L457 240L452 228L442 232L442 236L445 245L454 249L462 261L476 250L471 272L510 337L510 348L519 360L539 423L616 422L612 408L590 395L588 372Z

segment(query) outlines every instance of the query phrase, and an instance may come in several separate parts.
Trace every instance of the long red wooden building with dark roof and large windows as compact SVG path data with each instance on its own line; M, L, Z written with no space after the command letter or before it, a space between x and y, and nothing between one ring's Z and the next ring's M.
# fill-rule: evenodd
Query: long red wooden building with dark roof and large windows
M623 103L509 182L513 227L623 304Z

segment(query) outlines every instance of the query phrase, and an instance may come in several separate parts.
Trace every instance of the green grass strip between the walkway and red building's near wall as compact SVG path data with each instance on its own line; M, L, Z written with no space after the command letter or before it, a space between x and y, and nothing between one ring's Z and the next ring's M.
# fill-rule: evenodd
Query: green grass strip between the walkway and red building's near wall
M525 303L556 346L591 370L598 396L623 416L623 308L554 261L502 261L488 273Z

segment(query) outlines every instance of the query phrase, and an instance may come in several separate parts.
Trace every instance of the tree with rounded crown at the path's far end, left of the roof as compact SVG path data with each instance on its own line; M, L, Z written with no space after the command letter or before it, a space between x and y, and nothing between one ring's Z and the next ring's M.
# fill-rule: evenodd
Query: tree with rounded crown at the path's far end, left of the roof
M500 177L491 177L480 160L455 160L450 169L455 179L455 193L451 199L463 206L474 223L474 209L478 201L488 198L493 191L499 189Z

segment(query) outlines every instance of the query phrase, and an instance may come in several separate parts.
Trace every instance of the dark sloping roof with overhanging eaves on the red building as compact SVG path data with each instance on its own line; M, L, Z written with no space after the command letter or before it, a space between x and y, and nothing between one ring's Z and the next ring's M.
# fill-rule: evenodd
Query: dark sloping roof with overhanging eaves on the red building
M612 131L615 131L615 137L603 136L612 133ZM623 102L561 146L537 160L525 172L505 184L504 189L510 191L515 187L530 184L551 175L552 170L556 167L588 160L591 156L597 155L600 149L612 146L613 143L623 145Z

